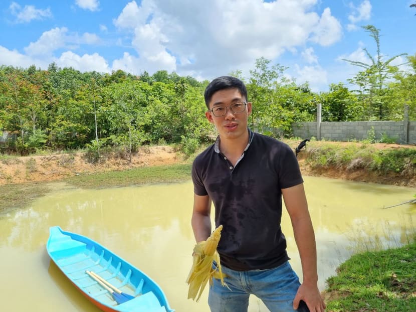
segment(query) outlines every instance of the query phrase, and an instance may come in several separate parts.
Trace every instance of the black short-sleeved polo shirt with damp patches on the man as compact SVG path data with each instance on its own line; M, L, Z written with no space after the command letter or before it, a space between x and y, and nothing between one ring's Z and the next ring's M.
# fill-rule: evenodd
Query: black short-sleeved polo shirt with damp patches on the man
M295 153L285 143L250 133L233 166L219 150L220 138L194 160L194 193L209 195L216 227L223 225L221 263L238 271L269 269L289 259L282 233L282 192L303 183Z

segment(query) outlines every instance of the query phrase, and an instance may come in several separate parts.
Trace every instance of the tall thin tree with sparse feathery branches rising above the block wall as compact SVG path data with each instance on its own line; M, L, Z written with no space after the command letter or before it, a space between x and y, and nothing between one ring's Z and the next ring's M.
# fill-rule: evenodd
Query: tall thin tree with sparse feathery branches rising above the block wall
M386 87L386 81L394 72L394 67L391 66L390 63L395 60L396 58L406 55L406 53L402 53L396 56L389 58L388 60L384 61L384 56L381 54L380 49L380 30L375 28L373 25L366 25L362 26L366 32L370 33L370 37L372 37L376 44L376 57L374 58L366 48L364 48L364 52L367 57L370 59L371 63L366 64L359 61L351 61L343 59L344 61L350 63L351 65L358 66L363 68L364 70L359 71L358 74L349 81L353 84L356 84L360 87L358 90L359 93L364 95L364 97L368 97L369 99L369 108L372 109L373 107L376 108L376 115L378 115L379 120L383 120L384 117L387 115L388 110L388 103L385 101L385 95L388 91ZM363 98L365 100L365 98Z

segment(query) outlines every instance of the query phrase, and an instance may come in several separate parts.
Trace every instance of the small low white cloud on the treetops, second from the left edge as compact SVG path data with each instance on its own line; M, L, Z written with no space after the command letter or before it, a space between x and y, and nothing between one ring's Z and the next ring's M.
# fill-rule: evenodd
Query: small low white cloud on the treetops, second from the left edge
M55 62L59 67L72 67L79 71L111 72L107 61L97 53L79 56L71 51L67 51L62 53L60 58L56 59Z

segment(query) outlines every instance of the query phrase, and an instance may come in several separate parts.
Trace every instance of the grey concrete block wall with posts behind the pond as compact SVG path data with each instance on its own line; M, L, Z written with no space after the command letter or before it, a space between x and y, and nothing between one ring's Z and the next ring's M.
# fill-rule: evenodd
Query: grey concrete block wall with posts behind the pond
M293 123L292 129L297 137L318 137L316 122ZM331 141L363 140L369 138L369 132L373 130L377 140L386 135L395 139L396 143L405 143L403 121L321 122L320 137ZM416 143L416 121L409 121L408 143Z

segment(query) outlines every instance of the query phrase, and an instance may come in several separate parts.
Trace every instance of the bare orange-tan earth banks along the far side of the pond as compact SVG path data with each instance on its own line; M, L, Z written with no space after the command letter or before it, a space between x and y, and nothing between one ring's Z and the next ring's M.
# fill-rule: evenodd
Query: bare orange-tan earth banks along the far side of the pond
M288 142L291 147L299 142ZM319 144L320 142L314 142ZM325 142L328 144L330 142ZM360 144L355 142L332 142L333 144ZM376 143L371 146L379 149L385 148L416 148L414 145L397 145ZM304 161L306 150L302 149L298 155L299 164L303 175L324 176L328 178L394 184L416 187L416 177L408 178L398 175L376 176L366 171L343 171L338 169L325 169L321 171L311 170ZM100 164L91 164L85 159L83 153L56 153L49 155L35 155L30 157L5 158L0 161L0 185L25 182L52 182L64 177L88 174L94 172L124 170L156 165L171 165L183 161L183 157L177 154L171 146L146 146L133 155L131 163L128 157L112 157Z

